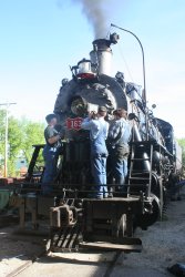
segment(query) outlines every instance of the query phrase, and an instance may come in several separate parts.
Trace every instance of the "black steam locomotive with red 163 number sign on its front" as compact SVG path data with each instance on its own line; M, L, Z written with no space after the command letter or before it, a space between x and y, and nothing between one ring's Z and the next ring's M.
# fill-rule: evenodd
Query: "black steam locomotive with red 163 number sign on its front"
M134 237L134 229L146 229L162 216L168 181L177 171L172 125L153 115L140 85L126 83L122 72L111 76L111 45L117 40L119 35L113 33L110 39L93 41L90 59L71 68L71 81L62 80L54 113L65 140L52 195L35 193L42 174L35 176L34 166L43 147L35 145L27 182L17 196L22 227L28 213L34 228L41 215L50 217L52 249L93 247L140 252L142 242ZM107 121L115 109L126 110L132 137L127 192L114 192L113 182L107 184L113 187L113 197L95 199L89 197L93 189L90 138L81 123L100 105L106 106ZM107 162L107 179L111 171Z

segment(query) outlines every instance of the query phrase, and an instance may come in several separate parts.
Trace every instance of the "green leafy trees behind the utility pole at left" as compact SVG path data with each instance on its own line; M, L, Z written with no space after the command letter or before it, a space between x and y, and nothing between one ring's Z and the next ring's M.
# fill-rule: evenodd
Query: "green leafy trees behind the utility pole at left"
M43 123L32 122L25 119L18 120L13 116L9 117L8 132L8 174L16 176L16 165L18 158L25 158L30 162L32 155L32 145L43 144ZM6 111L0 110L0 172L3 172L4 166L4 132L6 131ZM42 155L40 156L42 162Z

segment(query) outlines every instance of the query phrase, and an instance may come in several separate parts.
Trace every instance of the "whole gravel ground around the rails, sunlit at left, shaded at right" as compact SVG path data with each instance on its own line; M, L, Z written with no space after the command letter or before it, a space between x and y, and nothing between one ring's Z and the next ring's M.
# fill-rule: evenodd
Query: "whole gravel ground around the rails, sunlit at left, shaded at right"
M181 202L171 202L167 208L167 220L157 222L146 232L136 230L143 242L141 254L122 254L111 277L161 277L172 276L166 268L176 263L185 264L185 189ZM0 276L6 277L17 267L30 260L43 250L40 239L22 238L12 235L12 228L0 229ZM63 254L64 255L64 254ZM86 254L84 260L78 261L78 254L68 261L50 255L37 260L19 277L65 277L65 276L104 276L107 263ZM96 255L97 256L97 255ZM91 263L92 260L92 263Z

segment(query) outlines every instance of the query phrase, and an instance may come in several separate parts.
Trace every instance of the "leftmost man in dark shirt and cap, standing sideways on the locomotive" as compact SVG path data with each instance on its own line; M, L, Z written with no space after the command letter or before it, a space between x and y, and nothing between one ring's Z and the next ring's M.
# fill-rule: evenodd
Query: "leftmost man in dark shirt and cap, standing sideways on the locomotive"
M44 173L42 177L42 192L49 194L52 192L52 185L54 177L56 176L56 166L59 152L61 148L62 134L56 131L58 120L55 114L48 114L45 116L48 126L44 130L45 146L43 148L44 158Z

